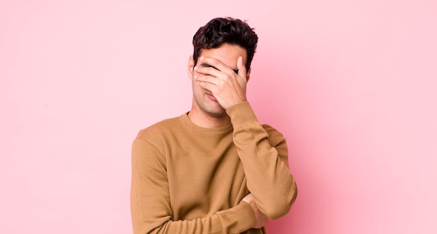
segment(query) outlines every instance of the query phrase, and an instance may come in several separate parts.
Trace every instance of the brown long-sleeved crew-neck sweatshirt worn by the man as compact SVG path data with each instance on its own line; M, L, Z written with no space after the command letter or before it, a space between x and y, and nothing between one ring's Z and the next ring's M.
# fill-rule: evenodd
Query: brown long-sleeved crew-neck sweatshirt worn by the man
M231 123L203 128L187 114L141 130L133 141L133 232L265 233L255 224L249 192L258 208L277 219L297 195L283 135L260 125L249 102L227 110Z

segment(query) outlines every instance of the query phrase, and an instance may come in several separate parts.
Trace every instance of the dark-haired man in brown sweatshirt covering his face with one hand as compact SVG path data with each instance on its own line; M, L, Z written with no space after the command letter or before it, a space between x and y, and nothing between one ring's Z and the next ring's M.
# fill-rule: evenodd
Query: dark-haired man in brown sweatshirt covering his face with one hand
M290 210L297 187L286 140L258 123L246 100L257 42L246 22L230 17L195 33L191 111L133 141L135 234L265 233L268 219Z

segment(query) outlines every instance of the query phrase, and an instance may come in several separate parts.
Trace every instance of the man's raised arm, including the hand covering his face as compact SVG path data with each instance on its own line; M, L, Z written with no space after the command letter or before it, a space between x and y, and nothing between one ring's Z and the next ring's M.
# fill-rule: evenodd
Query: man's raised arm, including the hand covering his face
M233 139L247 178L247 187L259 210L269 219L290 211L297 196L288 169L288 149L282 134L265 130L246 100L247 75L243 59L237 59L238 74L221 61L201 57L212 68L195 67L195 80L212 92L234 127Z

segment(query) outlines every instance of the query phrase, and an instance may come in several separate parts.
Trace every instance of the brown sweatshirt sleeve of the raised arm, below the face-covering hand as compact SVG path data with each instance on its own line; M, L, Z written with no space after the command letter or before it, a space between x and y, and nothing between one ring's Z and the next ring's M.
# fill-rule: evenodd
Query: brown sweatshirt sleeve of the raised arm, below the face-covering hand
M249 102L236 104L227 113L234 127L233 139L247 187L256 205L269 219L283 217L297 196L297 186L288 169L286 140L272 127L258 123Z

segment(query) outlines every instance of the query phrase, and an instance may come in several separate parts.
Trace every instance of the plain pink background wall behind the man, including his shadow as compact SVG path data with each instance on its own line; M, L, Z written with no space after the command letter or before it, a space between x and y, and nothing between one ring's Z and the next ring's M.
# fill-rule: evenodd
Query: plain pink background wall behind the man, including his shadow
M131 143L191 106L191 38L260 36L249 101L299 195L269 233L437 233L437 3L0 1L0 233L132 233Z

